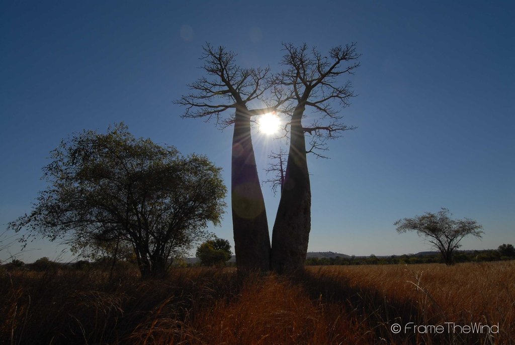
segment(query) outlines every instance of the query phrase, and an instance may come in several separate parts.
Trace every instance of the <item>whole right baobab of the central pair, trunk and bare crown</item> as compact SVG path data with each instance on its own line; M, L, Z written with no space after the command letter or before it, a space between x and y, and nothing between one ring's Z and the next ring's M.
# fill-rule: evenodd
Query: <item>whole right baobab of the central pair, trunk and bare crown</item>
M283 46L282 64L286 70L275 80L291 88L296 105L289 116L288 160L272 232L271 264L279 273L304 265L311 230L311 186L306 155L314 153L323 157L321 152L327 150L327 140L354 129L342 123L338 114L354 96L352 85L350 81L342 85L338 82L339 77L353 74L359 66L355 43L332 48L329 57L306 44ZM311 123L305 126L303 120ZM311 137L309 147L305 135Z

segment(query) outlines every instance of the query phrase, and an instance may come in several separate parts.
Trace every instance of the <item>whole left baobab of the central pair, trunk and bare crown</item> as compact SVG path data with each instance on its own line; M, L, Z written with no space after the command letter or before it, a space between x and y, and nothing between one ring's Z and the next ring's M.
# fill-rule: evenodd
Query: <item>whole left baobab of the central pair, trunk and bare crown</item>
M176 101L186 107L185 118L213 119L222 128L234 125L231 161L231 206L234 251L238 270L270 269L270 235L265 202L256 168L251 121L289 100L272 82L269 68L242 68L235 53L210 44L203 47L202 77L189 85L191 94ZM271 106L249 109L248 104L269 93ZM265 103L264 103L265 104Z

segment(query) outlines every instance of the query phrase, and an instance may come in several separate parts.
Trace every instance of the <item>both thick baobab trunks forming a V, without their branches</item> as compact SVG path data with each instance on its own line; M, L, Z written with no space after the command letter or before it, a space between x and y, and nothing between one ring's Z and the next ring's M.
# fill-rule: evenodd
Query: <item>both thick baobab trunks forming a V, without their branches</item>
M250 116L236 111L232 146L232 220L238 270L291 272L304 266L311 230L311 188L299 107L291 120L291 141L272 246L265 202L250 136Z

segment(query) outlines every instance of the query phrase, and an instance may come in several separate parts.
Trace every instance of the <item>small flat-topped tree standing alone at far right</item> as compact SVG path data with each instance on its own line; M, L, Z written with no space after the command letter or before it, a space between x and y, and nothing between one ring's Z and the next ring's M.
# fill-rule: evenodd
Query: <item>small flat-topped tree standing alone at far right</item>
M442 208L438 213L425 212L413 218L400 219L393 225L397 226L397 232L417 231L417 234L431 243L440 251L443 261L447 265L454 263L454 251L461 247L461 240L468 235L482 238L483 226L476 221L465 218L463 220L451 219L451 213L447 208Z

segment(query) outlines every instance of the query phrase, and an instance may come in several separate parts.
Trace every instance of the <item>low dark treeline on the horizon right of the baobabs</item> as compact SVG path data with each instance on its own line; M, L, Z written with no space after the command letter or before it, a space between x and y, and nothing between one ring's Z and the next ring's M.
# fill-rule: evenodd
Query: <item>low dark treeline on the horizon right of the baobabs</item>
M474 250L474 251L459 251L454 254L454 263L461 262L488 262L488 261L503 261L513 260L515 255L503 255L504 253L491 249L491 250ZM332 257L332 258L308 258L306 259L307 266L325 266L325 265L397 265L397 264L430 264L430 263L444 263L443 257L440 253L435 255L392 255L390 257L376 257L371 255L369 257Z

